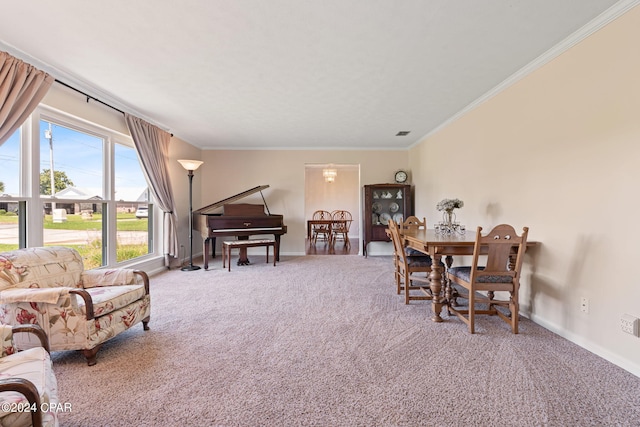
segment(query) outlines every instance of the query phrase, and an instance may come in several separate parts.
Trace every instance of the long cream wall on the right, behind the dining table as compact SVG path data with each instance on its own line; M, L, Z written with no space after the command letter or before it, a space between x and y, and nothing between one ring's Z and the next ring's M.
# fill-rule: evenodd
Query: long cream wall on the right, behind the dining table
M458 219L530 227L521 308L640 375L640 8L411 150L416 211L458 197ZM580 298L590 301L580 311Z

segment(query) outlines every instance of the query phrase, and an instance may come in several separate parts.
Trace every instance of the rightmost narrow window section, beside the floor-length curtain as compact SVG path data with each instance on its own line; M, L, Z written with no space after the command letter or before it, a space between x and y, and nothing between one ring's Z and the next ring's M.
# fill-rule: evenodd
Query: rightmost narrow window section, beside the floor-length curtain
M132 147L115 144L115 199L117 212L118 262L147 255L150 252L150 226L153 224L149 204L149 188Z

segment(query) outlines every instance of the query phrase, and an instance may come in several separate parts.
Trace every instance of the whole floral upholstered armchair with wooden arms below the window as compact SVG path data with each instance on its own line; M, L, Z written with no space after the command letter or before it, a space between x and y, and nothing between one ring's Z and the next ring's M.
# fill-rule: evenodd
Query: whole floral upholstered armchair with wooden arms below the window
M81 350L95 365L100 345L151 313L149 277L116 268L84 270L73 248L0 253L0 323L37 324L52 351Z

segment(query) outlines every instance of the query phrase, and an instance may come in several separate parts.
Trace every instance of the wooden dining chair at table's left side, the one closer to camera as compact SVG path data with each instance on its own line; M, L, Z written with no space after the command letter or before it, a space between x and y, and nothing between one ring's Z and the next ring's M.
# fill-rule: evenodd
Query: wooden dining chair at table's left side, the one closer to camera
M393 242L394 275L398 295L404 292L405 304L409 304L411 300L432 299L429 287L431 281L428 277L431 272L431 257L426 254L407 256L398 225L390 219L388 227ZM416 273L424 273L424 275L418 276ZM411 291L419 291L419 294L415 295Z

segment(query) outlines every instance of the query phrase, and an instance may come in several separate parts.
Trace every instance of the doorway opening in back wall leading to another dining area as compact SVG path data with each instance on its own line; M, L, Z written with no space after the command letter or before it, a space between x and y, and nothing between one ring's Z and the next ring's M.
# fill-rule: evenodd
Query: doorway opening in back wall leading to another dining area
M334 180L325 178L325 170L334 170ZM326 241L313 244L306 238L307 255L358 255L360 248L360 165L318 163L305 164L305 226L317 210L346 210L353 221L349 227L349 244L342 240L334 245Z

